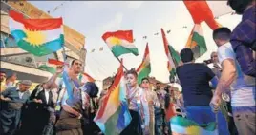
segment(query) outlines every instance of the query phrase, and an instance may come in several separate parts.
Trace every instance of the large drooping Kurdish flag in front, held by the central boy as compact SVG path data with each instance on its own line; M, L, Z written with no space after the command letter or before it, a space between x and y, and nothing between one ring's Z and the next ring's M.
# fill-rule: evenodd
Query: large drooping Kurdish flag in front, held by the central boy
M102 105L96 113L94 121L105 135L119 135L130 124L132 118L125 98L122 61L118 68L114 84L102 99Z

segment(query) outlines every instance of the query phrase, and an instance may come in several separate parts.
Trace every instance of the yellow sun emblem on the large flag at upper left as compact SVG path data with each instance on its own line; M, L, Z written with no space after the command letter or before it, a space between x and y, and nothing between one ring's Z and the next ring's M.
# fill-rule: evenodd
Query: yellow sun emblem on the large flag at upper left
M27 35L27 38L25 40L29 42L32 46L40 46L46 41L46 36L43 34L42 31L25 29L25 33Z

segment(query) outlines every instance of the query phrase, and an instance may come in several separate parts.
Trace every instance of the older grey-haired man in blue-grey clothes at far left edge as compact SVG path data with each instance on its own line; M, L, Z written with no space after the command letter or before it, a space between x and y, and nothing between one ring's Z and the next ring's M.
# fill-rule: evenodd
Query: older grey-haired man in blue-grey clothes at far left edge
M7 102L7 107L0 111L0 134L12 135L18 128L21 108L30 98L28 89L32 86L30 80L23 80L18 87L9 87L1 93L1 101Z

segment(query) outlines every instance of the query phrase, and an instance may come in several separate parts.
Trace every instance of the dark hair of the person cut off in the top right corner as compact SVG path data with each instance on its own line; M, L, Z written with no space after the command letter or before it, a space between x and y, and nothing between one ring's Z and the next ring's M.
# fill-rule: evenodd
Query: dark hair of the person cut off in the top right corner
M253 0L228 0L227 5L229 5L237 14L243 14L248 5L252 3Z

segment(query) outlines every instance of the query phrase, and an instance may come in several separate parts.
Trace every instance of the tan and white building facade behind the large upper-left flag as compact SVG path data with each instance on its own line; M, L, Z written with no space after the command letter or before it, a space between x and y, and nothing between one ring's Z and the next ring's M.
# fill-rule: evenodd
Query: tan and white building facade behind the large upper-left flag
M63 50L36 57L18 48L9 29L9 10L18 11L24 14L25 18L52 18L48 13L39 10L27 1L1 1L1 70L7 75L16 72L18 80L28 79L35 84L47 81L52 74L41 70L38 66L47 63L49 58L63 61ZM85 36L65 25L63 29L67 59L79 59L85 65Z

